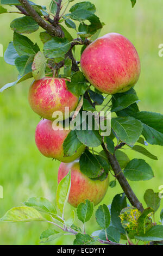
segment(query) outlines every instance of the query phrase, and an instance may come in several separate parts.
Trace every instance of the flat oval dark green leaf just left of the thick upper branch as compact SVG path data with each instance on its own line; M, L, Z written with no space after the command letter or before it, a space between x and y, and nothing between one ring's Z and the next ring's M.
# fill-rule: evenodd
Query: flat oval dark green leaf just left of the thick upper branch
M13 20L10 27L13 31L20 34L30 34L39 29L37 22L30 16L24 16Z

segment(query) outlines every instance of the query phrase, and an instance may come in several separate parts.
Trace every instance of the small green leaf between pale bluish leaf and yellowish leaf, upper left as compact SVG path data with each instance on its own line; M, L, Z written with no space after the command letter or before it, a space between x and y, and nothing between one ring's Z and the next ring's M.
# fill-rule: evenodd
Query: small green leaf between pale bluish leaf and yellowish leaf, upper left
M28 62L29 58L29 56L20 56L15 59L15 66L21 76L32 72L32 62Z

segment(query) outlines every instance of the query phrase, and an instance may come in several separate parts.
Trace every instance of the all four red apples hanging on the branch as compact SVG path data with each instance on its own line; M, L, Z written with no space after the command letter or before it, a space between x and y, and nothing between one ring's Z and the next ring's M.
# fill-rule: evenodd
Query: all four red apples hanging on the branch
M100 92L115 94L126 92L135 85L140 75L140 59L135 47L124 36L109 33L86 47L81 57L81 68L87 80ZM63 143L70 132L53 129L53 113L65 107L69 112L78 105L79 97L68 91L66 78L45 77L34 81L29 89L29 104L43 119L36 127L35 142L42 155L61 161L58 182L71 170L71 190L68 202L77 207L85 199L97 205L108 189L109 176L103 181L89 179L80 172L80 147L72 156L64 156Z

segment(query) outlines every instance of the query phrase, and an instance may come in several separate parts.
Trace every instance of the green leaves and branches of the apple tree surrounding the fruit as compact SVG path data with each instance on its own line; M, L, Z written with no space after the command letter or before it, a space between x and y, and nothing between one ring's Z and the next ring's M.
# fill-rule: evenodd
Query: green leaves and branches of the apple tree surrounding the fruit
M80 60L74 58L76 48L81 53L93 40L98 38L104 23L96 15L96 7L91 2L53 0L49 6L35 4L27 0L1 0L0 13L8 13L8 6L21 14L10 24L14 32L4 53L5 62L15 65L17 80L1 88L8 89L31 77L39 80L53 76L71 78L68 89L81 97L78 111L98 111L103 108L104 95L98 92L85 79L80 71ZM136 0L131 0L134 7ZM70 8L71 5L71 8ZM40 29L43 28L43 29ZM42 47L27 36L40 29ZM76 35L76 38L73 38ZM36 41L39 40L36 38ZM72 131L64 142L65 156L71 156L81 144L86 150L80 157L81 172L91 179L105 179L112 174L110 190L120 183L123 193L116 194L110 205L99 205L95 213L93 203L86 200L65 216L65 206L71 187L71 173L62 179L57 188L56 205L46 198L30 198L23 206L9 210L1 222L42 221L52 224L52 228L43 231L40 242L50 242L58 237L73 234L74 245L119 245L120 240L131 239L138 244L161 244L163 240L163 211L160 222L152 219L160 206L159 194L152 189L145 191L146 205L137 199L129 181L146 181L154 178L149 164L143 159L130 160L123 149L134 150L153 160L157 157L148 151L147 145L163 145L163 115L140 111L139 98L132 88L126 93L109 96L106 108L114 113L111 119L111 135L102 137L101 131ZM110 105L109 105L110 104ZM115 144L117 141L117 144ZM93 148L101 147L95 151ZM91 160L91 161L90 161ZM93 163L93 164L92 164ZM110 175L111 176L111 175ZM128 203L127 203L128 199ZM96 218L99 230L87 234L85 224L90 218ZM76 225L76 218L82 228ZM124 244L126 241L124 241Z

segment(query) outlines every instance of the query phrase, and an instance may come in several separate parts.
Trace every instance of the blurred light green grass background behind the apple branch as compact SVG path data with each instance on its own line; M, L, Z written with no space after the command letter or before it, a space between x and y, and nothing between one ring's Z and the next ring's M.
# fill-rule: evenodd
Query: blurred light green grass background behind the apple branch
M34 2L49 5L51 1ZM76 2L74 1L73 4ZM101 35L109 32L120 33L131 40L139 52L141 76L135 89L141 100L140 109L163 113L163 58L158 56L158 46L163 43L162 0L137 0L134 9L131 8L130 0L93 0L91 2L96 5L97 14L105 23ZM8 10L11 9L13 10L8 8ZM12 41L13 32L10 30L10 22L17 16L18 14L1 14L0 16L0 43L3 44L4 51L8 42ZM38 42L42 48L39 32L29 37ZM0 87L17 78L16 68L5 63L2 57L0 58L0 77ZM21 205L29 197L43 196L53 202L55 200L59 162L42 156L36 148L34 132L40 118L28 104L30 82L28 80L0 94L0 185L4 188L4 199L0 199L0 216L13 206ZM146 189L153 188L158 192L159 186L163 185L162 148L149 145L148 149L159 159L154 161L145 157L153 168L155 178L149 181L130 182L142 202ZM131 150L127 153L130 159L143 158L142 155L133 153ZM110 204L112 198L121 192L118 185L115 188L109 188L102 203ZM161 206L163 206L162 203ZM156 213L156 220L159 220L161 206ZM67 216L70 209L72 209L71 206L67 205ZM41 231L48 227L48 224L40 222L0 223L0 245L38 245ZM89 234L99 229L95 218L91 218L86 229ZM65 236L52 244L71 245L73 238L73 236Z

